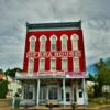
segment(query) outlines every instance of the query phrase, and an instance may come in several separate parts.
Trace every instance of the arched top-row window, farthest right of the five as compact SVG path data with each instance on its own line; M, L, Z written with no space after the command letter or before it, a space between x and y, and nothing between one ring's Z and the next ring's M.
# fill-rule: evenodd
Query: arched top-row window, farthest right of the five
M77 51L79 36L77 34L73 34L70 38L72 38L72 43L73 43L73 50Z

